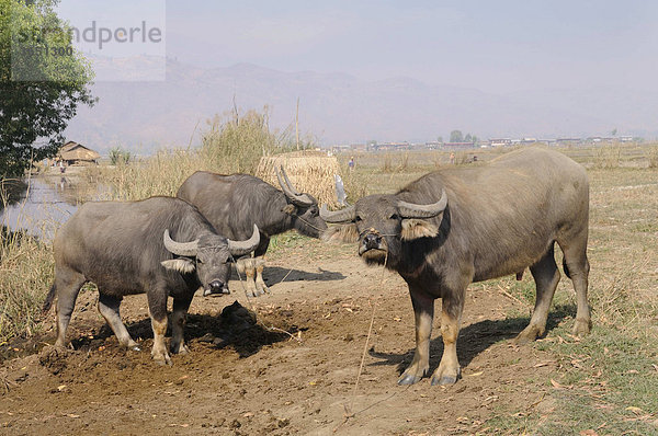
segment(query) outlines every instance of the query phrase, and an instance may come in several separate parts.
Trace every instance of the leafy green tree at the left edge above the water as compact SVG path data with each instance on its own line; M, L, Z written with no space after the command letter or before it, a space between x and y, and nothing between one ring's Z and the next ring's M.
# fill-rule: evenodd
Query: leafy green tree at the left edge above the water
M0 179L55 156L78 104L95 102L57 2L0 0Z

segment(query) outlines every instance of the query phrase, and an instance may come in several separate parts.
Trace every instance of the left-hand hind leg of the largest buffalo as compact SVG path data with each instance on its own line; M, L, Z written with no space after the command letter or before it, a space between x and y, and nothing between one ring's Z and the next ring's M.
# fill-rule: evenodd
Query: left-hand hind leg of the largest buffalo
M553 245L540 262L530 267L530 272L536 285L535 308L527 326L514 339L517 344L534 341L546 331L551 301L553 301L553 295L559 283L559 271L555 264Z

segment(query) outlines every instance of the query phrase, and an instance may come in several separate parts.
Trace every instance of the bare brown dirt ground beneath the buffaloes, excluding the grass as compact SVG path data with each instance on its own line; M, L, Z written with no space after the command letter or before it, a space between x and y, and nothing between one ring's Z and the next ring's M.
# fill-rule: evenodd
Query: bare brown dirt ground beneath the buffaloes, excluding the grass
M447 388L429 379L399 387L415 347L399 276L311 240L279 250L269 264L269 296L249 302L234 280L230 296L195 297L185 333L191 353L173 356L171 367L150 359L144 295L122 305L143 345L127 352L98 313L97 292L83 290L69 328L75 349L45 345L54 342L53 312L44 336L5 346L0 434L489 434L499 414L554 410L546 381L558 364L536 345L510 343L527 319L506 321L506 313L527 308L495 286L468 292L458 340L463 378ZM238 305L253 305L257 321ZM439 325L431 371L443 349Z

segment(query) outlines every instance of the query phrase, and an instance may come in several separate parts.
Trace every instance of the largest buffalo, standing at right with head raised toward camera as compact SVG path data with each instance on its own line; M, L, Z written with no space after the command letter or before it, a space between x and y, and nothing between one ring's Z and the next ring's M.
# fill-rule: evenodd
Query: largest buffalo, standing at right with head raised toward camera
M575 334L590 330L587 300L589 183L586 171L556 151L518 150L487 165L427 174L394 195L371 195L354 206L321 216L351 222L328 238L359 241L370 264L397 271L409 286L416 314L416 353L400 385L429 370L434 300L442 299L443 357L432 385L460 377L456 341L466 287L530 267L536 302L520 343L544 334L559 282L554 243L578 297Z

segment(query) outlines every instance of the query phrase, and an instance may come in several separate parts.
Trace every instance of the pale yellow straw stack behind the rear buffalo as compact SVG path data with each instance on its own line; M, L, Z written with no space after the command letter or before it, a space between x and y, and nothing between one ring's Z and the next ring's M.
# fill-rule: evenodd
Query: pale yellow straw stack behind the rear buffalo
M316 150L265 156L256 176L280 187L274 169L281 165L298 192L313 195L319 205L338 206L333 174L340 175L340 165L336 157Z

